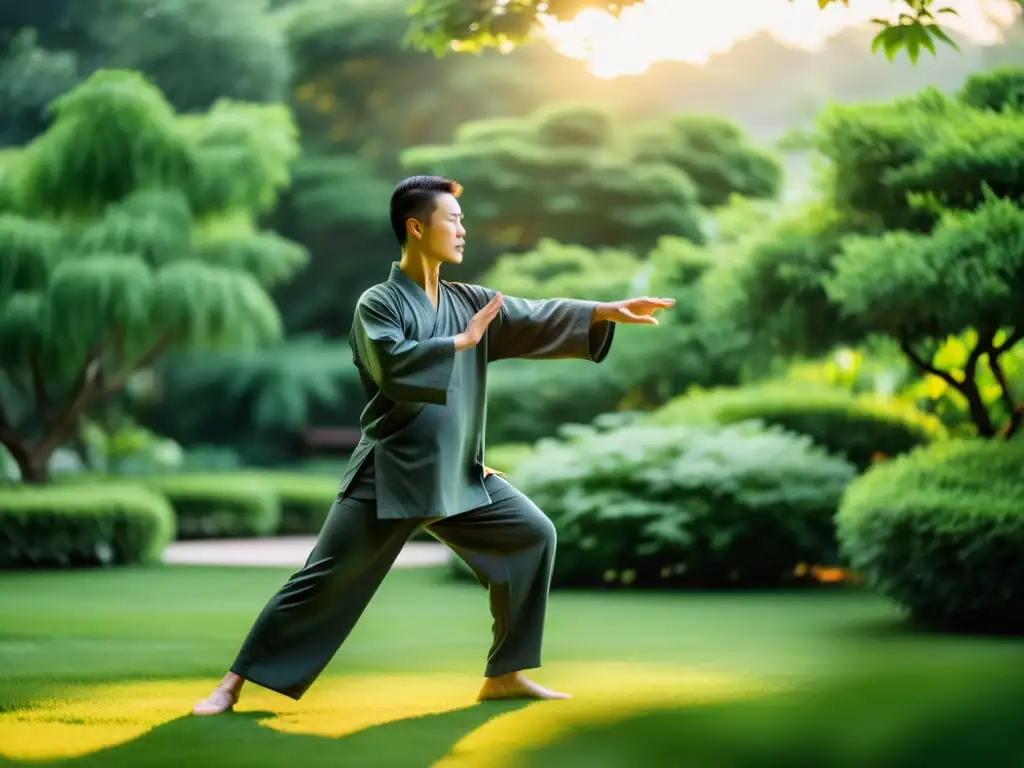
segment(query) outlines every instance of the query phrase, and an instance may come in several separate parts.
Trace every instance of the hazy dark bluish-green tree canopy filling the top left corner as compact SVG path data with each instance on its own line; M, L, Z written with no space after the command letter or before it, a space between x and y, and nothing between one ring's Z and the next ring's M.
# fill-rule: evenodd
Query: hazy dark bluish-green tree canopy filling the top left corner
M138 70L183 112L278 101L291 65L267 0L34 0L0 8L0 142L49 123L53 98L100 68Z

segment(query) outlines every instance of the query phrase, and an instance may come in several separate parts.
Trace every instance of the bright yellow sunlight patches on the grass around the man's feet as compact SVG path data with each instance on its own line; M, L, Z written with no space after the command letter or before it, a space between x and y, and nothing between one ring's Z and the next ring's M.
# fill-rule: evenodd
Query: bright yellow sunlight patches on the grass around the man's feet
M777 690L746 678L672 666L554 665L536 677L574 698L499 715L462 739L437 765L497 768L517 750L542 744L577 725L614 721L658 706L737 700ZM59 699L0 713L0 756L55 760L130 741L180 718L215 682L69 688ZM302 701L251 686L238 709L273 713L262 724L283 733L338 738L375 725L465 708L478 684L478 679L455 675L326 677Z

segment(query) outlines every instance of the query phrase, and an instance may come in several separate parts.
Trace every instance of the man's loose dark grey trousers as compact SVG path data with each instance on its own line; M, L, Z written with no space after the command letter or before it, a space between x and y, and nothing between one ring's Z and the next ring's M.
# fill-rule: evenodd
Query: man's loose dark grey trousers
M493 643L484 675L541 666L555 527L505 479L486 480L492 504L455 517L380 520L359 494L331 508L305 565L269 600L231 672L301 698L348 637L410 537L446 544L489 593Z

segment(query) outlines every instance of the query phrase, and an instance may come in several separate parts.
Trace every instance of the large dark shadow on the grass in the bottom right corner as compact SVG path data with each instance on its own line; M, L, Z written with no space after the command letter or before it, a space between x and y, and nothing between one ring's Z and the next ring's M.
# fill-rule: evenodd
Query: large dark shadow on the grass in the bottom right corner
M521 765L1021 768L1024 669L876 672L803 693L648 712L577 729Z

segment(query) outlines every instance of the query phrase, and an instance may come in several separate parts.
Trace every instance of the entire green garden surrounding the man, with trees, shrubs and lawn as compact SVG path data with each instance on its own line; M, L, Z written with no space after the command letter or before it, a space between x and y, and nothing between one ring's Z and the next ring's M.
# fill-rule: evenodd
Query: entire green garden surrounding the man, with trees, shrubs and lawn
M722 0L649 67L535 2L0 9L0 766L1019 768L1024 27L949 4ZM575 697L471 706L486 595L423 534L307 698L189 718L334 499L418 173L447 279L677 302L490 370Z

